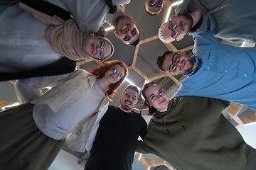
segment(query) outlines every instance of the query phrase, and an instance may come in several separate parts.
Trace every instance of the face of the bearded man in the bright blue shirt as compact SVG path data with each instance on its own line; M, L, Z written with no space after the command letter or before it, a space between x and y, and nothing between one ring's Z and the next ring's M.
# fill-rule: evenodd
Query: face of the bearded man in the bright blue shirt
M177 74L189 74L193 71L193 69L196 69L196 60L192 57L186 55L183 52L176 52L177 55L175 55L175 52L171 52L167 54L164 57L164 62L162 64L162 69L164 69L165 72L169 72L171 68L171 64L174 63L176 68L174 70L171 70L172 75ZM178 59L178 58L179 59ZM178 61L177 61L178 59ZM173 62L177 61L177 62Z

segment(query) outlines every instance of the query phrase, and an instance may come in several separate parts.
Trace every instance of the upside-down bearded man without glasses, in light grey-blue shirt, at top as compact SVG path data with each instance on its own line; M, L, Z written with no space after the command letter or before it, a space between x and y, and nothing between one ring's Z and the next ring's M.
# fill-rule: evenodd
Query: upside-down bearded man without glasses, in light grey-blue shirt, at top
M103 23L109 23L115 29L114 34L126 45L136 46L140 40L139 29L132 17L124 14L120 4L129 4L130 0L46 0L65 8L83 33L95 33L105 36ZM110 4L109 4L110 3Z

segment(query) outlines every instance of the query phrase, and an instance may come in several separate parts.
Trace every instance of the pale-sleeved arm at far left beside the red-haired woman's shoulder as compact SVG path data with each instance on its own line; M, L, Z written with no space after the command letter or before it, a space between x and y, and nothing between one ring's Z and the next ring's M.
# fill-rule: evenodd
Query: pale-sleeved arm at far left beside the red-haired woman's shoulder
M15 83L15 91L18 98L23 103L29 103L33 99L43 95L42 89L47 87L53 87L53 83L60 79L68 77L72 73L62 74L58 76L50 77L34 77L31 79L18 79Z

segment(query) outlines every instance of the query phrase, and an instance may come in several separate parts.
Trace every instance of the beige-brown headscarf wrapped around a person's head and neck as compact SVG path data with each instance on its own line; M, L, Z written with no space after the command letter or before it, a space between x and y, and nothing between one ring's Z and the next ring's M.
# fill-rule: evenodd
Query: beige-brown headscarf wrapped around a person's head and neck
M46 38L50 45L53 47L53 50L58 52L60 55L64 55L68 57L70 60L98 60L104 61L110 58L114 53L114 45L107 38L103 38L98 35L90 35L87 33L82 33L78 26L74 23L72 19L68 21L63 21L60 17L48 16L46 13L42 13L37 11L26 4L19 3L19 6L23 8L25 11L33 14L35 18L38 18L42 23L50 24L48 30L46 30ZM87 55L82 48L82 44L89 40L90 38L99 38L102 40L106 40L110 43L112 47L112 52L110 56L105 57L104 60L95 59L90 55Z

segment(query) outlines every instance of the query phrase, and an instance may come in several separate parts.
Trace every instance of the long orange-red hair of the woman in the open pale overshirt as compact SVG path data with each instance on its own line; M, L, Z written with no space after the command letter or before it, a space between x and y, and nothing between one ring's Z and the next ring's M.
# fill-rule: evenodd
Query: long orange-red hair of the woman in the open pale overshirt
M110 69L110 67L112 67L115 64L119 64L121 67L124 68L124 77L122 77L119 81L117 81L117 83L110 84L110 86L107 87L106 92L110 98L114 96L119 86L121 86L122 83L124 82L125 77L128 76L128 69L126 64L118 60L112 60L112 61L104 62L103 64L100 64L99 66L93 68L91 72L93 75L97 76L97 78L102 78L104 77L105 72L107 72L107 70Z

